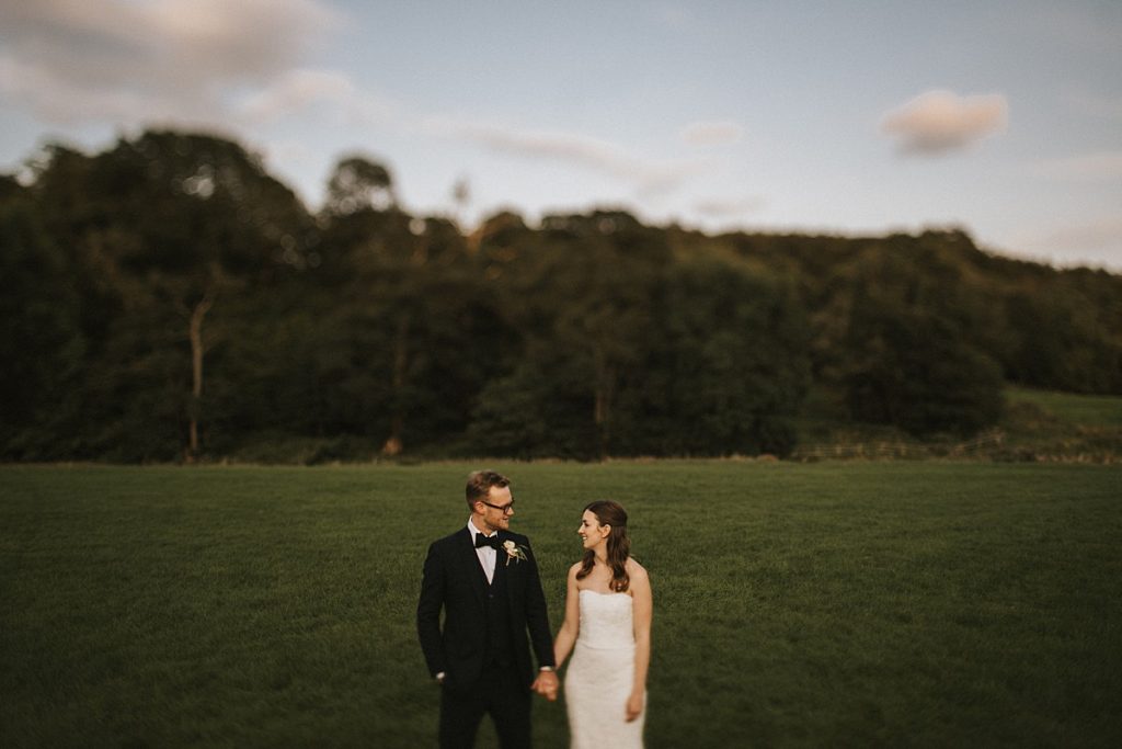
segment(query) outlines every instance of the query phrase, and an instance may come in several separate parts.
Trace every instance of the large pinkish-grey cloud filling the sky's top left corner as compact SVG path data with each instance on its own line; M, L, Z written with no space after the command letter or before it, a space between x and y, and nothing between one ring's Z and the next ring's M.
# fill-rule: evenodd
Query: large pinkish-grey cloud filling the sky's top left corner
M335 22L315 0L0 4L0 95L44 119L197 118L291 70Z

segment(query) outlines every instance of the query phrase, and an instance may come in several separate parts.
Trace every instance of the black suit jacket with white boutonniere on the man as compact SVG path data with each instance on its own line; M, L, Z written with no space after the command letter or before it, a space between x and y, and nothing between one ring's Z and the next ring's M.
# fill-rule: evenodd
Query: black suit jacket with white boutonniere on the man
M497 551L495 574L506 575L509 596L512 652L527 686L534 679L526 632L539 666L553 666L553 637L545 611L545 595L537 575L537 561L530 540L519 533L499 531L499 541L514 541L526 551L525 559L509 559ZM482 673L487 647L487 576L472 546L471 531L461 528L429 547L417 602L417 636L429 672L444 672L449 686L470 686ZM440 613L444 611L441 628Z

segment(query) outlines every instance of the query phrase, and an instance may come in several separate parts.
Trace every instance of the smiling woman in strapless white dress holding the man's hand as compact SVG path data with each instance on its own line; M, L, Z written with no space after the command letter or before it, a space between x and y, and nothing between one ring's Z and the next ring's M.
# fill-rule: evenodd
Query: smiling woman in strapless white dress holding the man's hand
M569 568L564 623L553 641L558 667L572 651L565 704L572 749L643 746L651 664L651 582L631 558L627 513L592 502L577 529L583 558Z

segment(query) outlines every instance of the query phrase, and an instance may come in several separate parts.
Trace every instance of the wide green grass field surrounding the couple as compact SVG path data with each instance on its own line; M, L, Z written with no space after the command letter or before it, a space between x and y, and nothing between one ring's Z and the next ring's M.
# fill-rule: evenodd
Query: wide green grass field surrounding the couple
M434 746L414 610L471 467L0 467L0 746ZM1122 745L1118 466L490 467L554 628L581 508L631 511L649 747Z

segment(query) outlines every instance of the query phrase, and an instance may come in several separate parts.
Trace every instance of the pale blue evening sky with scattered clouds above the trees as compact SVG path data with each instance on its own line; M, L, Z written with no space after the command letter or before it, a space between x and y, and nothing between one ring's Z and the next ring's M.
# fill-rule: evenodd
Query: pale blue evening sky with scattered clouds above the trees
M1122 2L0 0L0 172L147 127L316 209L624 209L717 232L958 228L1122 272Z

